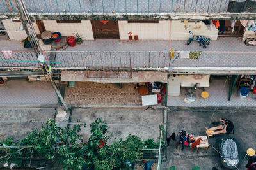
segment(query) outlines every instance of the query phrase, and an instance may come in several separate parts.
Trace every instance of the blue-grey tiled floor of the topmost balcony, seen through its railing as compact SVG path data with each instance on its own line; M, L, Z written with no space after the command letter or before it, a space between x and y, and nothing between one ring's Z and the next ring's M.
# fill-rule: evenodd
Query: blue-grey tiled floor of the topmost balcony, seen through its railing
M228 0L24 0L24 4L28 13L218 13L227 11ZM14 0L10 7L16 10ZM4 0L0 12L10 12Z

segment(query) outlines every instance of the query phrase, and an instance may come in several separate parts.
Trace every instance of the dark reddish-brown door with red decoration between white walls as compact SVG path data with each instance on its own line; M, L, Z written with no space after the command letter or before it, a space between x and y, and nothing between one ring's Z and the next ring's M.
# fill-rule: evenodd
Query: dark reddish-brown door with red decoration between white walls
M116 20L92 20L94 39L119 39L119 27Z

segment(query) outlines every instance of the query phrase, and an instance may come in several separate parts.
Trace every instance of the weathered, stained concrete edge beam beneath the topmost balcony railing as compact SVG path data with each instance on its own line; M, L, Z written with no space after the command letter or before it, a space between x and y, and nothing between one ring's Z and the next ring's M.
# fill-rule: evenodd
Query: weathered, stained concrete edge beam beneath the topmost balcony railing
M256 13L29 13L31 20L256 20ZM0 13L0 20L17 19L16 13Z

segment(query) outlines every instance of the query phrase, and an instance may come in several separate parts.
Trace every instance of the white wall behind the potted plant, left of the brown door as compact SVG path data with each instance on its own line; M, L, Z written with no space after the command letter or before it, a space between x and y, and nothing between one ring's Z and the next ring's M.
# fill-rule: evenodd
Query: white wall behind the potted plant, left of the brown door
M57 23L56 20L44 20L44 26L47 31L60 32L62 36L74 36L73 33L77 31L84 40L94 39L90 20L82 20L81 23Z

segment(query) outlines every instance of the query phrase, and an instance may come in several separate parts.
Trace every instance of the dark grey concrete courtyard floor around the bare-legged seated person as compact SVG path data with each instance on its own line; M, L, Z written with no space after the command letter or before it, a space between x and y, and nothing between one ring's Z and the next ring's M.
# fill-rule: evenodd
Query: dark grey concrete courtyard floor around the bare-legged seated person
M167 132L168 134L172 132L177 134L181 129L184 129L189 134L202 136L205 134L204 127L208 126L213 111L204 108L196 108L195 110L171 110L168 112ZM256 143L254 142L256 136L255 109L217 109L212 117L212 121L218 121L218 118L228 118L234 123L234 134L230 134L230 137L237 140L242 159L248 148L256 149ZM212 127L212 124L210 127ZM218 138L209 138L209 144L218 150L216 139ZM177 170L192 169L195 166L199 166L203 170L212 170L212 167L217 167L219 170L224 169L221 167L219 153L211 146L209 147L208 153L205 153L204 148L200 148L198 154L196 154L195 149L191 152L188 147L185 147L181 151L180 147L176 150L175 143L170 142L170 146L167 149L168 159L166 162L163 162L163 169L169 169L171 166L175 166ZM246 163L247 159L242 160L239 169L246 169Z

